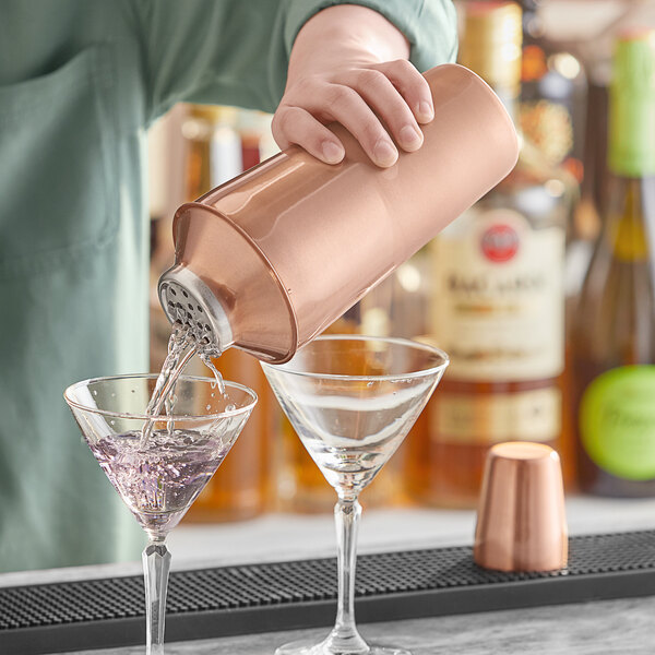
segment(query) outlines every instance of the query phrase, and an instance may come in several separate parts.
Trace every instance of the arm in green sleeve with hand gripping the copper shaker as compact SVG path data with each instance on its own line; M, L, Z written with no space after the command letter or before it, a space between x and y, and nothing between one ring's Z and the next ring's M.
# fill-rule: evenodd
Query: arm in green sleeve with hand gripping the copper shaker
M283 147L297 143L336 163L343 146L324 126L337 120L373 160L391 165L397 152L386 128L415 150L418 122L431 117L420 109L430 96L407 57L420 70L454 59L454 7L350 1L123 0L141 53L133 71L144 122L180 100L278 107L274 135Z

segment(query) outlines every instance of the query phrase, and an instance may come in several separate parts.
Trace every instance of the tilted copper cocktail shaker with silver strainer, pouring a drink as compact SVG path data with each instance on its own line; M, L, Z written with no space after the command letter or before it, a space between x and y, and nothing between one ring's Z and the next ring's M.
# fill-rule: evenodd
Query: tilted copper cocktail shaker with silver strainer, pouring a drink
M282 364L499 182L519 146L498 97L457 64L425 76L434 119L391 168L334 124L341 164L294 146L179 207L159 279L168 318L214 354Z

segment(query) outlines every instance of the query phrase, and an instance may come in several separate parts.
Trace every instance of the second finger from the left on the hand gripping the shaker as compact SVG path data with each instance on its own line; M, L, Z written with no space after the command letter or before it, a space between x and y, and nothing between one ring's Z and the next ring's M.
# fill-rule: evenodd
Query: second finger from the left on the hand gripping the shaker
M369 158L382 168L393 166L398 151L372 109L354 88L342 84L322 84L302 98L313 115L343 124L359 142Z

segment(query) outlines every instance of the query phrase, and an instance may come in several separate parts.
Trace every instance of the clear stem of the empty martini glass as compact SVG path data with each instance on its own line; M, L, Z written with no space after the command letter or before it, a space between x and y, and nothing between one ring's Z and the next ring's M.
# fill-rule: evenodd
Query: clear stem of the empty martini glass
M342 497L334 505L336 524L338 605L336 622L327 638L327 647L334 653L367 653L368 646L355 627L355 562L357 527L361 505L357 497Z

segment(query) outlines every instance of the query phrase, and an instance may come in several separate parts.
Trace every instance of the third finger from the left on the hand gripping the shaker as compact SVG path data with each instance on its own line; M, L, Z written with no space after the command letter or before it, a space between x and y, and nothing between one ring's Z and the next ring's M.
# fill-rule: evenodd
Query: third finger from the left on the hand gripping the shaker
M384 121L396 143L405 151L418 150L422 132L404 97L381 71L360 69L350 71L342 82L357 91Z

